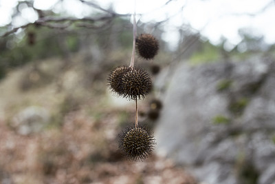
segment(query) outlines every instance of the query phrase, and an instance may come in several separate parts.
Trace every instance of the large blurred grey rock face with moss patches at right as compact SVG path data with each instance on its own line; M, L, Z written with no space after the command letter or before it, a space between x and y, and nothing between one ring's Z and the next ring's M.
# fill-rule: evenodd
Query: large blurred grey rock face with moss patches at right
M163 99L158 154L209 184L275 183L272 59L179 63Z

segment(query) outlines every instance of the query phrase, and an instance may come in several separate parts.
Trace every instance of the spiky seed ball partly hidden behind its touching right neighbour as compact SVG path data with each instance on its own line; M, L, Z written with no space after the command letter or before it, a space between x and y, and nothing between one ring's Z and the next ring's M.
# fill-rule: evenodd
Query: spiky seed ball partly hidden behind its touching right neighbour
M119 95L124 94L123 83L122 83L122 76L124 72L128 70L126 66L119 66L111 71L107 78L107 82L109 88L113 91L118 93Z

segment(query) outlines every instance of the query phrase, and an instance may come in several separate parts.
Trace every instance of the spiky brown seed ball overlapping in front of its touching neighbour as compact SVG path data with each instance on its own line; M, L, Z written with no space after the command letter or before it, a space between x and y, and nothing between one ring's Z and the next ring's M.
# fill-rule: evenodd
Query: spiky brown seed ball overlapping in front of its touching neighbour
M123 94L126 99L141 99L151 91L151 76L140 67L128 68L122 76Z

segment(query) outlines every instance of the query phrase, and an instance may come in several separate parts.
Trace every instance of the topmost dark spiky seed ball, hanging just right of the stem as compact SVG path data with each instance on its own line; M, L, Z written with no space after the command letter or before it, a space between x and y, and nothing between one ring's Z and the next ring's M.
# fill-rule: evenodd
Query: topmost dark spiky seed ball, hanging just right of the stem
M159 50L159 42L152 34L140 34L135 43L137 54L144 59L153 59Z

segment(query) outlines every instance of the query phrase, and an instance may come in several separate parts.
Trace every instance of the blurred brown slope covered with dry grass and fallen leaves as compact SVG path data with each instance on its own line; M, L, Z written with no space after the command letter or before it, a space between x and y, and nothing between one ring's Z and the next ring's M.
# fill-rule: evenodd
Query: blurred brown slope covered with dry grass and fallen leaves
M60 63L26 65L0 81L0 183L197 183L155 153L126 161L118 134L133 122L134 103L111 95L106 72ZM47 112L42 129L14 123L30 121L21 113L30 107ZM146 100L139 104L140 112L147 108Z

